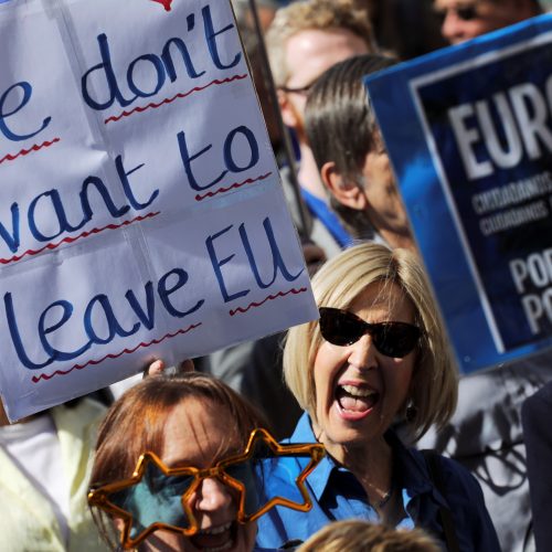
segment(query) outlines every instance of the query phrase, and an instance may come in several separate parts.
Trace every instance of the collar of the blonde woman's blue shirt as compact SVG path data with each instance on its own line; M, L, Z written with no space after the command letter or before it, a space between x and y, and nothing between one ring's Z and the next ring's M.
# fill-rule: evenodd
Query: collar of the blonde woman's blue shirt
M310 417L307 413L304 413L299 418L289 440L293 443L317 443ZM432 482L423 455L417 450L406 448L392 429L385 433L385 440L393 449L393 471L395 477L399 476L400 478L399 486L402 489L405 507L412 499L424 493L431 493L437 503L447 507L446 500ZM333 469L348 471L347 468L327 455L307 478L312 495L318 501L328 486Z

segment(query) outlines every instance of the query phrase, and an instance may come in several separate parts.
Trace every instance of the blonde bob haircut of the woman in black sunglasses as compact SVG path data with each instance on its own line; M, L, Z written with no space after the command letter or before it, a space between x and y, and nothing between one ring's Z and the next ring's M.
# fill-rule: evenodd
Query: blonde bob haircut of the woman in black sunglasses
M456 408L458 378L443 322L418 257L406 250L361 243L329 262L312 280L319 307L348 309L373 283L395 284L414 306L422 330L410 396L415 406L408 420L418 439L436 424L443 427ZM384 291L383 291L384 293ZM316 422L315 358L322 343L318 321L289 330L284 349L284 376L300 406ZM404 414L405 406L403 412Z

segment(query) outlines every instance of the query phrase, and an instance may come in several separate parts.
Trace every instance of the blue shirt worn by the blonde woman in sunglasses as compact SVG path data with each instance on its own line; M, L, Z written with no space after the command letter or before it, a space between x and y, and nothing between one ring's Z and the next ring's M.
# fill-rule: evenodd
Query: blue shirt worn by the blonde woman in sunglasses
M422 527L444 542L438 520L438 508L444 506L453 512L461 551L500 552L479 484L465 468L454 460L439 458L446 488L446 497L443 497L432 482L422 453L407 449L392 431L385 434L385 438L393 449L393 479L401 490L406 512L399 528ZM301 416L287 442L316 443L307 414ZM265 498L279 495L301 501L291 481L307 463L304 458L289 457L263 465ZM289 477L285 477L286 474ZM278 549L291 542L298 544L333 520L360 518L379 522L378 513L370 506L360 482L331 456L326 456L309 475L307 489L312 497L311 510L300 512L273 508L257 521L257 545Z

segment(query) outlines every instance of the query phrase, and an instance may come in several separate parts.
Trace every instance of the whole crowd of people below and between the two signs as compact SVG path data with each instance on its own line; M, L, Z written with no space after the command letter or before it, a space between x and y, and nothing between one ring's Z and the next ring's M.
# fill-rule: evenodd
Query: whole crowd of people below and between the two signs
M0 550L549 550L552 357L457 373L362 83L542 6L232 1L320 318L116 400L0 404Z

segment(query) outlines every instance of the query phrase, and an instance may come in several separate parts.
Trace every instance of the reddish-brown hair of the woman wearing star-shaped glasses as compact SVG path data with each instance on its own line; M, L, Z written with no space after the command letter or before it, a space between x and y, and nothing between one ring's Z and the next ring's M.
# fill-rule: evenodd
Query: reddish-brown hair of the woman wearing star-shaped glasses
M130 477L146 450L161 455L167 417L189 400L212 403L217 416L229 416L234 422L235 432L221 443L213 464L244 450L251 432L266 427L254 406L215 378L199 372L147 378L108 410L98 432L91 488ZM112 520L99 509L93 508L92 513L102 537L115 549L117 537Z

